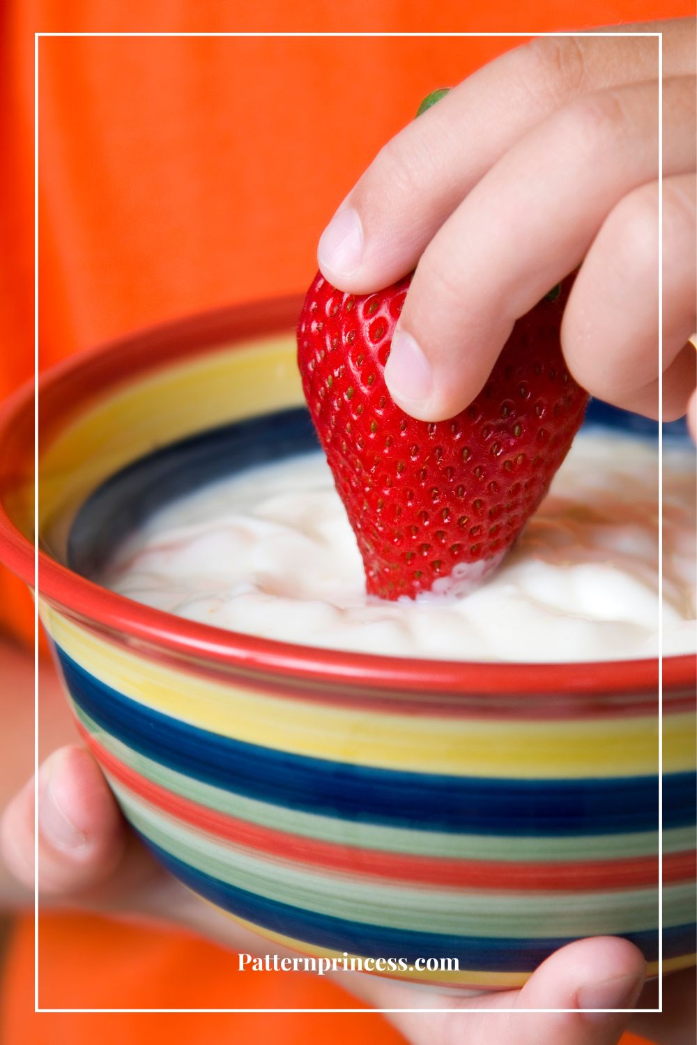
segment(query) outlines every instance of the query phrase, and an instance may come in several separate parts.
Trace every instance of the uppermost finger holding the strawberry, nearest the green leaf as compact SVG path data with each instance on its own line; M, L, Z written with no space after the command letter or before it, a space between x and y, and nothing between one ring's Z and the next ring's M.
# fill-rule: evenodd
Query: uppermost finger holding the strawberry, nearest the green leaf
M664 31L664 67L690 71L691 20ZM458 204L510 146L580 94L655 78L653 36L540 37L469 76L380 149L320 240L334 286L365 294L411 272Z

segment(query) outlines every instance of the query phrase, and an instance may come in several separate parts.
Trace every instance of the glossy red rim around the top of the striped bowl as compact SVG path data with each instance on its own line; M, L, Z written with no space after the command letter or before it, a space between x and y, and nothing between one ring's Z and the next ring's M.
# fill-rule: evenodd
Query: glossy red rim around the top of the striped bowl
M71 355L39 376L38 394L50 431L60 426L65 403L71 413L95 393L134 376L186 358L193 350L229 349L263 334L289 333L297 325L302 296L288 295L198 312L149 326ZM124 376L124 373L127 376ZM62 393L70 388L71 396ZM13 426L34 416L34 382L29 380L0 404L0 460ZM0 472L0 561L34 587L34 544L11 521L4 507L9 487ZM125 634L132 642L159 648L169 659L202 659L217 672L231 669L279 680L343 684L416 694L506 695L507 698L558 695L620 695L651 691L658 682L658 658L601 661L436 660L358 653L265 638L199 624L154 609L100 587L45 552L38 554L38 593L73 620L103 634ZM695 684L693 654L665 656L663 682L668 690Z

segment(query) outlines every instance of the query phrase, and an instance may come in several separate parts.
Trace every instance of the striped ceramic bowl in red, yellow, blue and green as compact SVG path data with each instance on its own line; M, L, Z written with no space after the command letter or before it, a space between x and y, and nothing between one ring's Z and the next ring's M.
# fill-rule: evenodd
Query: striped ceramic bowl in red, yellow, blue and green
M42 381L39 603L85 743L162 863L268 939L401 957L397 975L487 990L610 933L655 972L655 660L319 650L180 620L87 579L167 498L315 445L298 310L209 314ZM20 394L0 426L0 551L33 586L31 432ZM671 970L694 960L694 658L666 659L663 683ZM409 968L441 957L458 971Z

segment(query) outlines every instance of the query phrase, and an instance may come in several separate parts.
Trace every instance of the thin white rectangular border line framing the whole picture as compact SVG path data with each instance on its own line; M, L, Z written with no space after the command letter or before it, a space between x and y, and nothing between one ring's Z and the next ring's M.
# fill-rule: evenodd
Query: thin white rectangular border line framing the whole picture
M663 32L34 32L34 534L39 532L39 41L43 37L411 37L411 38L483 38L506 39L530 37L654 37L658 41L658 1005L656 1008L41 1008L39 1005L39 883L34 879L34 1014L40 1013L663 1013L663 921L664 921L664 790L663 790L663 712L664 712L664 653L663 653ZM39 547L34 542L34 591L39 595ZM39 775L39 601L34 598L34 779ZM34 789L34 867L39 866L39 789Z

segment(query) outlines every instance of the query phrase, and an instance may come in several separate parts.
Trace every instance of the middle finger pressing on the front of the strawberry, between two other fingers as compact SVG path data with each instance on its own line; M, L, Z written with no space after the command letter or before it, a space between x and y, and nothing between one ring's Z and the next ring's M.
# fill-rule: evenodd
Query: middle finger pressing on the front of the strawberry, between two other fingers
M667 175L694 164L694 77L664 87ZM437 421L467 405L515 320L580 263L618 201L657 178L657 101L655 82L577 99L472 189L426 248L406 295L386 368L403 410Z

